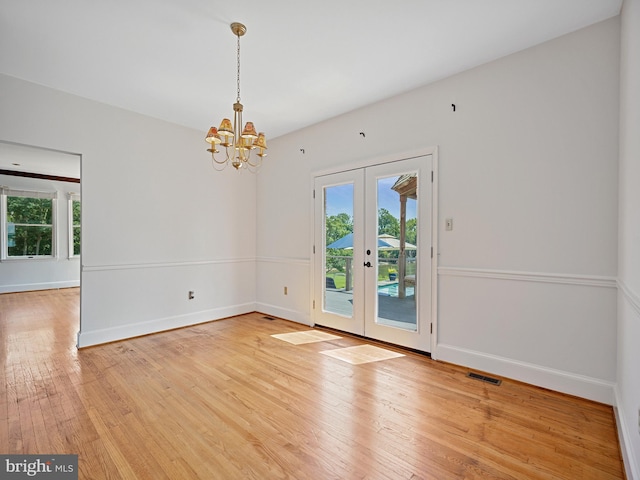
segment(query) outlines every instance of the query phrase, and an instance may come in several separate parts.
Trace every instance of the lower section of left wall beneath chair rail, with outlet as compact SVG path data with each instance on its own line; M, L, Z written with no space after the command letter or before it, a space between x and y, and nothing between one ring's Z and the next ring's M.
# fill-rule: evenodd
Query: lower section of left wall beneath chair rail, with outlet
M255 259L85 267L78 346L253 312L255 298Z

